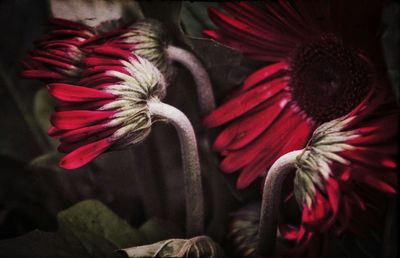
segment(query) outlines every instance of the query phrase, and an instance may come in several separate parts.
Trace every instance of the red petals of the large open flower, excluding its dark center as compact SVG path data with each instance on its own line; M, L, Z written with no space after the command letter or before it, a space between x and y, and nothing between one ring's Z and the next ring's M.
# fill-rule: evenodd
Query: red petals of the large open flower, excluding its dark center
M210 9L210 17L218 29L206 30L207 36L251 58L272 63L251 74L240 89L204 120L207 127L224 126L214 149L224 157L220 164L222 171L241 171L237 188L247 187L281 155L303 148L318 126L319 121L302 109L290 87L295 80L293 52L299 45L319 41L325 35L351 47L358 42L354 37L365 38L361 32L362 35L349 37L342 24L347 13L340 13L343 11L340 3L334 1L328 8L324 1L296 1L294 7L281 0L263 1L261 7L240 2L221 4L224 11ZM320 94L318 90L314 94ZM331 101L337 101L333 97ZM310 103L317 112L322 110L319 104L324 101Z

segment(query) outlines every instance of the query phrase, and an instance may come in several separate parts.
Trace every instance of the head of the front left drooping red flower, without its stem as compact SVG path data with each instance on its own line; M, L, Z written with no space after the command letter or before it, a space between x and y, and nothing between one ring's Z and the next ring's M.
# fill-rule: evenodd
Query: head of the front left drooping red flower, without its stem
M101 65L88 59L101 60ZM108 46L92 49L87 67L76 84L48 84L60 100L51 117L50 135L68 153L60 166L74 169L109 149L142 141L150 132L149 102L165 95L162 74L149 61Z

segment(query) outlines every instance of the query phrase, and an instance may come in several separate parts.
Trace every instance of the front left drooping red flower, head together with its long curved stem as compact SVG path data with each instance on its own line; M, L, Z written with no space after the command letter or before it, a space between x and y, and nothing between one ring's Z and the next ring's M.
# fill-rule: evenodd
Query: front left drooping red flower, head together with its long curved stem
M96 60L96 62L93 62ZM76 84L50 83L60 100L49 134L58 138L65 169L79 168L108 150L143 141L155 121L168 121L178 132L185 178L186 231L204 230L203 193L197 142L189 119L160 102L165 96L163 74L150 61L109 45L91 48Z

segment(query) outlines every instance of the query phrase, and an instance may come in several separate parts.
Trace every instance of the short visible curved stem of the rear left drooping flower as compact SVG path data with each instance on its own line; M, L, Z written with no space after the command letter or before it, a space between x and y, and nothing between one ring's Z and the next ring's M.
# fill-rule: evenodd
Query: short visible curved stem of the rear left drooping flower
M168 46L168 57L184 65L192 74L196 83L198 101L201 114L207 114L215 108L215 98L210 77L200 60L187 50Z

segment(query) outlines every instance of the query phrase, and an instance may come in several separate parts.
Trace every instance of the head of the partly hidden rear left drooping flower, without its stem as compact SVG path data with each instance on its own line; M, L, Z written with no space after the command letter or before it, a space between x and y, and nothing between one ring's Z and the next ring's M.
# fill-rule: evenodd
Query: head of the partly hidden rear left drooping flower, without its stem
M102 60L84 58L100 45L133 52L167 71L164 35L157 21L144 20L129 26L104 31L106 25L89 27L81 23L52 18L35 51L23 61L22 76L45 82L75 82L85 65L102 65Z

